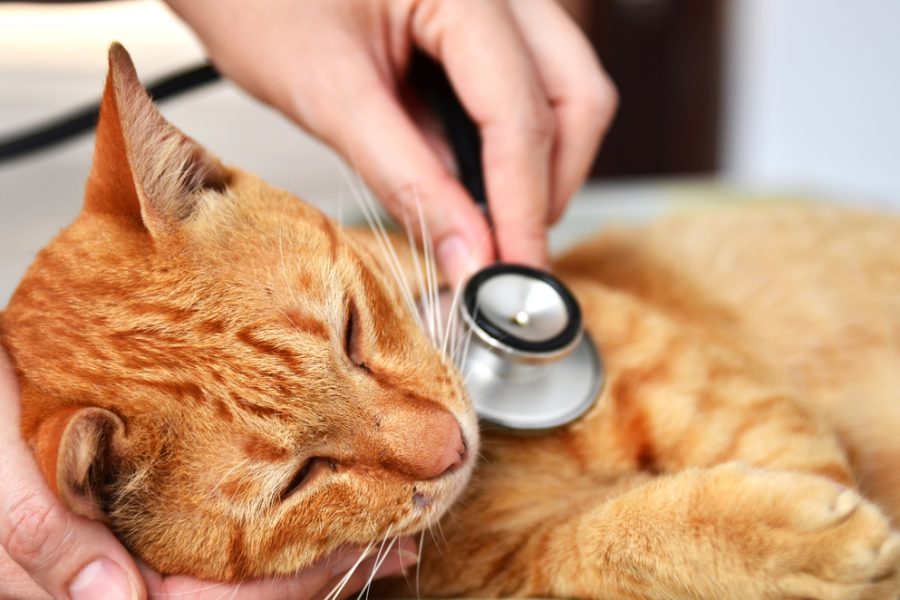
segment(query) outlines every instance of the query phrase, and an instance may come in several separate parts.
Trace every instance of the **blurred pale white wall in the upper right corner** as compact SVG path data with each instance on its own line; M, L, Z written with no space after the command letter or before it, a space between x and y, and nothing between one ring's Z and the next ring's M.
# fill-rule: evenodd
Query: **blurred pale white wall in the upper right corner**
M729 8L724 173L900 207L900 2Z

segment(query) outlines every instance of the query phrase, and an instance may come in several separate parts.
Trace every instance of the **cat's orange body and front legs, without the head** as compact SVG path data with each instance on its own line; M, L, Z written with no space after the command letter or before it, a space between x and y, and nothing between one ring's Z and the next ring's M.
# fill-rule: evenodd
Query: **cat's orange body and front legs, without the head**
M605 390L557 433L483 436L425 593L896 598L896 537L832 482L900 522L898 239L897 218L770 206L563 257Z

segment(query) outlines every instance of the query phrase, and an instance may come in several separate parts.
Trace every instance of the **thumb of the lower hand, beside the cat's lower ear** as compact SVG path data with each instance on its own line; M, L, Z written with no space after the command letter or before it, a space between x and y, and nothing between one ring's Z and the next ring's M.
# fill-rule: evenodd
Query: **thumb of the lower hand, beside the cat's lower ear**
M19 431L18 391L0 350L0 545L54 598L139 598L137 567L106 527L70 513L47 487Z

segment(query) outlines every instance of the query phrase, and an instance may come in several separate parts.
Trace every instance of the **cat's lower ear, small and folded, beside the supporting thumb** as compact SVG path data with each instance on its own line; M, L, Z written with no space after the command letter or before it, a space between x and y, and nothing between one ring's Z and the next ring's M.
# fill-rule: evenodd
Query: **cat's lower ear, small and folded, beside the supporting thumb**
M38 460L63 504L104 520L104 492L121 467L126 443L122 420L102 408L78 408L54 415L41 429L44 448L37 449ZM49 464L54 459L55 468Z

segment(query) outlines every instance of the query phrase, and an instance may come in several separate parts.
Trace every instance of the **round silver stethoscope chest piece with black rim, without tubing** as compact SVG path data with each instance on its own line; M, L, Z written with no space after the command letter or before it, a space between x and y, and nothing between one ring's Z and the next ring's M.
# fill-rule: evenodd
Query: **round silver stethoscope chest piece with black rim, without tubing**
M597 401L600 355L578 302L552 275L520 265L488 267L466 284L460 311L472 334L463 376L484 422L554 429Z

